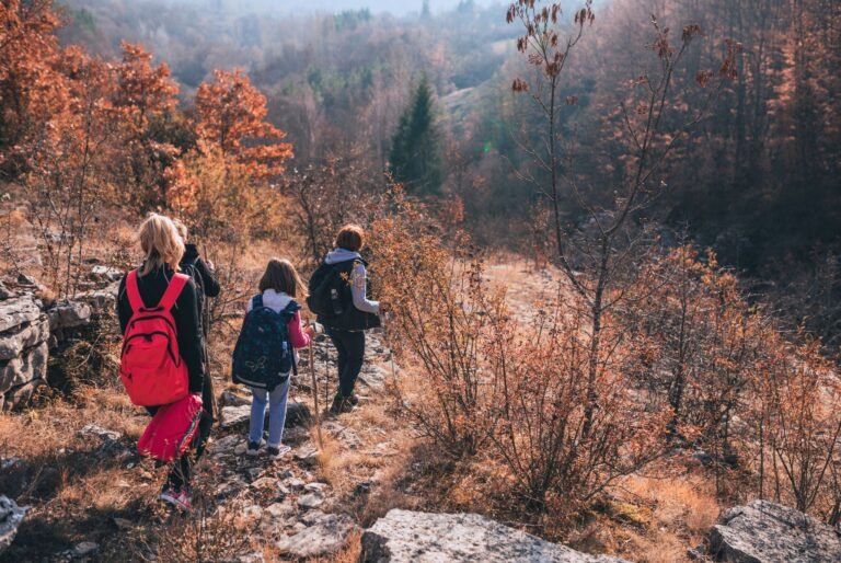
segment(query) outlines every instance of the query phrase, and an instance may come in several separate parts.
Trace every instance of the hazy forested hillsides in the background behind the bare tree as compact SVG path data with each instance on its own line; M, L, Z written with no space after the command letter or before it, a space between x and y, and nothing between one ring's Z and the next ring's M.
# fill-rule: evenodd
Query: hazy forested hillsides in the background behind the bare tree
M353 160L376 179L420 77L435 96L437 197L463 207L477 241L533 252L531 226L544 194L523 181L534 106L510 91L517 30L500 7L461 1L448 12L405 18L370 11L273 16L196 5L72 0L62 42L106 56L141 42L172 67L187 95L216 68L242 68L268 100L268 119L288 133L295 168ZM679 69L686 77L739 45L738 78L681 140L653 182L661 197L646 214L667 244L690 238L744 273L794 324L834 342L841 328L839 234L841 7L831 0L597 3L597 19L572 55L560 113L569 177L602 203L625 170L631 139L617 134L650 13L664 25L696 22L704 41ZM210 30L210 31L208 31ZM691 82L691 80L690 80ZM670 100L694 107L704 92L677 83ZM185 106L189 107L187 102ZM672 123L671 125L675 125ZM531 137L531 139L530 139ZM567 191L568 192L568 191ZM567 227L584 217L564 203ZM538 221L539 223L540 221ZM538 230L540 227L538 227Z

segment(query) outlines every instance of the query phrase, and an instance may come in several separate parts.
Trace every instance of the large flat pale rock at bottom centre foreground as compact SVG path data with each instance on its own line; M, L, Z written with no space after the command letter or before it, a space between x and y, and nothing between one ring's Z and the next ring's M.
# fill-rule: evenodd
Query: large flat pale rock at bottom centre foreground
M426 514L394 509L362 535L362 561L408 563L510 561L621 563L550 543L475 514Z

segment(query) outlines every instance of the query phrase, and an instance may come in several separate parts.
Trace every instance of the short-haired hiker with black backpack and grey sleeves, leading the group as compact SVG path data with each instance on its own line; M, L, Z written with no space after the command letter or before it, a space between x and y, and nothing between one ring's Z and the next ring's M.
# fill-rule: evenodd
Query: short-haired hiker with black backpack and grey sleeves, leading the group
M336 249L310 279L310 309L338 351L338 390L330 411L352 411L359 402L354 393L365 363L365 331L380 325L378 301L368 299L367 262L359 255L364 231L344 227L336 237Z

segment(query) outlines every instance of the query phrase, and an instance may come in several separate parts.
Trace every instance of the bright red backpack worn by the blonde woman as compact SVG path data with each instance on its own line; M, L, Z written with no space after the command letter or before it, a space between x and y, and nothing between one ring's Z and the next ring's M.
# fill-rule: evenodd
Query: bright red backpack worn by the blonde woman
M147 308L137 287L137 271L126 278L131 320L123 335L119 377L131 402L158 406L189 394L187 366L178 352L172 308L189 280L175 274L157 307Z

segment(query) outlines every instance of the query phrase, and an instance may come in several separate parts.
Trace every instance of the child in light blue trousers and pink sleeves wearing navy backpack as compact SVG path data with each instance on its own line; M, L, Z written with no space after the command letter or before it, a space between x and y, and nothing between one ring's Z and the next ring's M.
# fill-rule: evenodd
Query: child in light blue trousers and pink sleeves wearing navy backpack
M296 298L307 297L307 286L288 260L272 258L260 280L260 295L249 301L237 347L233 380L251 388L251 423L246 453L260 455L268 405L266 453L278 459L289 451L281 440L286 423L289 378L297 374L295 349L312 342L314 329L303 328Z

